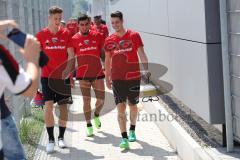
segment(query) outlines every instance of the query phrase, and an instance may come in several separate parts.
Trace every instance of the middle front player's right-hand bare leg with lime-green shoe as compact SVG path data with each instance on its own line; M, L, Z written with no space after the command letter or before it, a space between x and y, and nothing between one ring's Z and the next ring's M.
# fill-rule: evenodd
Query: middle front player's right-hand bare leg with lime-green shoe
M96 128L100 129L101 128L101 122L99 119L99 114L102 110L102 107L104 105L104 99L105 99L105 86L104 86L104 81L103 79L98 79L95 80L92 83L94 92L95 92L95 96L96 96L96 108L95 108L95 112L94 112L94 123Z

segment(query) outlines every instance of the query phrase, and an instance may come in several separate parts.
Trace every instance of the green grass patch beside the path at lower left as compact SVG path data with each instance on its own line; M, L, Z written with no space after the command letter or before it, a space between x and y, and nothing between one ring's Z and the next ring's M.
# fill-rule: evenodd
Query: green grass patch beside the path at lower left
M34 158L43 131L43 126L44 119L42 108L32 108L32 115L25 117L20 124L19 136L28 160Z

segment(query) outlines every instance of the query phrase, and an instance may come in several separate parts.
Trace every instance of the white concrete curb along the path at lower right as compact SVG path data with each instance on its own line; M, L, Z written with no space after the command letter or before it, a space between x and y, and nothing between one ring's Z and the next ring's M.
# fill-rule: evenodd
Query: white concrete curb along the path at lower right
M144 110L149 114L156 114L159 111L169 115L159 102L142 103ZM168 139L178 156L183 160L218 160L211 157L176 121L156 121L155 124Z

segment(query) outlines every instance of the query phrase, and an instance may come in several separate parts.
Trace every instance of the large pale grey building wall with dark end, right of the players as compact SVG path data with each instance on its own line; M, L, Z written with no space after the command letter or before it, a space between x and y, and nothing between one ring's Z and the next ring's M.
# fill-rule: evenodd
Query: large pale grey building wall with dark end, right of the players
M108 24L110 12L122 11L150 62L168 68L162 79L174 96L209 123L224 123L218 0L110 0L105 6Z

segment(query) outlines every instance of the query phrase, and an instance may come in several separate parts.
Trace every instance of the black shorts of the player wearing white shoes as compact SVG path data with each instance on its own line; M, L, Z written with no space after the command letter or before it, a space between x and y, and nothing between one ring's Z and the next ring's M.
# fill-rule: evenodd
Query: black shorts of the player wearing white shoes
M70 79L41 78L44 101L62 104L72 104Z

